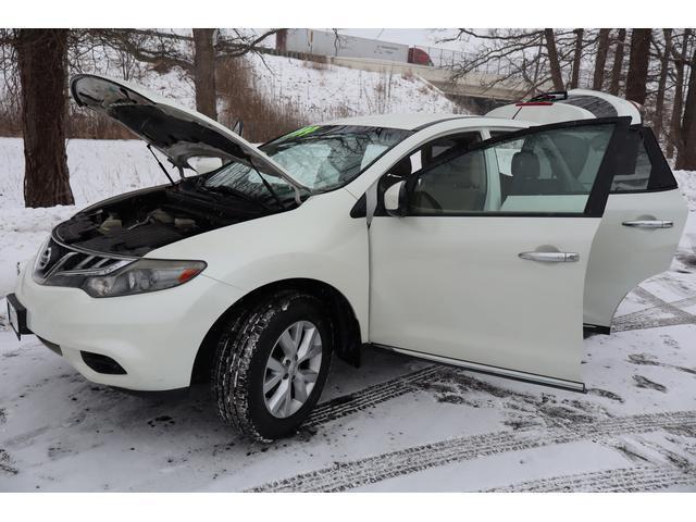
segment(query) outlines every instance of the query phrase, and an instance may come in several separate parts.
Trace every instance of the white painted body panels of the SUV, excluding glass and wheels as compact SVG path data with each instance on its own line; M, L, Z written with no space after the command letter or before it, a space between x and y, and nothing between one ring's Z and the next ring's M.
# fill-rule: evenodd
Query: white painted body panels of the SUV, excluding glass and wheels
M631 109L621 107L619 115L638 123ZM413 133L350 183L311 195L293 210L146 253L146 259L207 263L198 277L175 288L96 299L79 288L37 283L33 263L27 263L16 287L16 298L27 309L26 326L60 346L62 356L96 383L137 390L183 388L191 383L206 336L231 307L268 285L311 281L343 296L359 325L361 344L582 390L583 323L608 331L625 294L669 268L686 220L686 204L675 186L612 192L604 215L531 216L515 214L513 207L505 215L395 217L375 212L380 178L421 147L461 133L480 133L486 141L492 132L534 132L539 123L569 117L567 107L544 109L549 108L534 107L540 116L526 111L529 121L511 116L514 107L508 107L487 116L405 114L330 122ZM175 110L179 117L222 127L194 111ZM582 111L572 120L595 117ZM302 186L253 146L224 127L219 130L278 176ZM189 158L181 157L183 163ZM510 203L514 198L501 203L496 196L497 174L486 172L484 208ZM549 206L560 204L547 198ZM666 227L655 227L658 221ZM624 226L626 222L652 224L644 223L645 228ZM522 252L549 250L571 252L579 260L520 258ZM96 372L80 351L112 358L125 374Z

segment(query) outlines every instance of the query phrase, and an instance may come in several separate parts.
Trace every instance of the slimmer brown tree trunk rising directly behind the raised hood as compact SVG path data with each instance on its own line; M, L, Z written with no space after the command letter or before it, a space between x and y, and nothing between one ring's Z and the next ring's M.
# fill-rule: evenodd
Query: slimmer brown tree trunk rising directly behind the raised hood
M214 32L215 29L194 29L194 85L196 110L217 120Z

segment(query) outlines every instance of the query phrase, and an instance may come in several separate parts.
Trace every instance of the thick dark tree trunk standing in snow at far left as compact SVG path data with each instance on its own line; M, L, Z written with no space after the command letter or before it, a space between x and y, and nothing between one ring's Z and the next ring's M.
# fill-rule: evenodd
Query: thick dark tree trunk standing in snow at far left
M18 29L24 204L74 204L65 154L67 29Z

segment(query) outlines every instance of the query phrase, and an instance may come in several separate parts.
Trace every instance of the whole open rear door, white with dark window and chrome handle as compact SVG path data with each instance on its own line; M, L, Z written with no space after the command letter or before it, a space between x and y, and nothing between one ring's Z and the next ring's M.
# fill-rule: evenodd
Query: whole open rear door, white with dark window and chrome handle
M629 291L669 270L688 213L652 132L633 126L627 138L585 283L584 322L602 328Z

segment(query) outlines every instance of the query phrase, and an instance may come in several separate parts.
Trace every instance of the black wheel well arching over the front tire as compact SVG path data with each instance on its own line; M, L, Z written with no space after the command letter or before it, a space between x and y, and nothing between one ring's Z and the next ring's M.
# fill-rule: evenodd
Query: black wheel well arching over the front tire
M300 290L311 294L323 301L334 334L334 350L344 361L358 368L360 365L360 323L348 299L333 286L316 279L283 279L261 286L229 307L210 327L203 338L191 372L191 384L208 381L215 356L216 339L224 324L246 308L268 299L279 290Z

